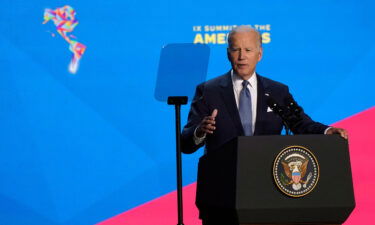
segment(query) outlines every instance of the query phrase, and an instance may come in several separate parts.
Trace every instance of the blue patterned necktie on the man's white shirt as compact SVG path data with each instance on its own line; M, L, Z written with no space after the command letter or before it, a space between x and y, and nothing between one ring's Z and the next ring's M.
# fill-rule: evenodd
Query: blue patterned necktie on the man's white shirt
M247 88L249 81L244 80L242 82L242 90L240 92L239 112L241 117L241 123L245 136L253 135L253 111L251 110L251 95Z

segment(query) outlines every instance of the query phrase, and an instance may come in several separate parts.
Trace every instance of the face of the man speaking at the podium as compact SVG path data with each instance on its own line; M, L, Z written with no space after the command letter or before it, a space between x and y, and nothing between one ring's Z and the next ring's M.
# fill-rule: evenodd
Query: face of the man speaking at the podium
M243 79L249 79L262 58L262 48L258 45L255 32L237 32L232 35L228 47L228 59L233 70Z

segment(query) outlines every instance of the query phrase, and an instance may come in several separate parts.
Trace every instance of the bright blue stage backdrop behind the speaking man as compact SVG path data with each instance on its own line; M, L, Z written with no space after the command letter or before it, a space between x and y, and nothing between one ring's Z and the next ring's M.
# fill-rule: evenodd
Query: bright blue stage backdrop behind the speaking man
M46 8L70 5L78 72ZM161 47L207 43L230 69L226 29L264 35L258 73L330 124L374 106L372 1L2 0L0 224L93 224L175 189L174 111L154 97ZM53 37L52 33L55 34ZM189 107L182 110L186 122ZM196 180L202 151L183 158Z

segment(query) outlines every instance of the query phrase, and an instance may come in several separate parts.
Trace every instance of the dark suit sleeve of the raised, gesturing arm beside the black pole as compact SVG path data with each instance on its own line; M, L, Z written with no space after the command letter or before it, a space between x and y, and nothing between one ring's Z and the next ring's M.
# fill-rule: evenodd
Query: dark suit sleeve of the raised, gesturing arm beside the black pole
M209 115L209 110L204 96L204 84L201 84L196 88L195 96L190 107L188 122L182 130L181 150L183 153L193 153L204 145L205 142L196 145L193 137L195 129L207 115Z

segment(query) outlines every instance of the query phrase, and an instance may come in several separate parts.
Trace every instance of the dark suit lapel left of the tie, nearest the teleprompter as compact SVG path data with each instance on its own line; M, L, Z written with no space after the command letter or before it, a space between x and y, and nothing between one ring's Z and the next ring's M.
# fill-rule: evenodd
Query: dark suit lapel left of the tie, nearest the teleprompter
M221 96L224 104L228 109L229 115L232 117L233 123L241 135L244 135L240 114L237 109L236 99L234 97L233 83L230 72L226 74L221 84Z

